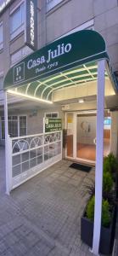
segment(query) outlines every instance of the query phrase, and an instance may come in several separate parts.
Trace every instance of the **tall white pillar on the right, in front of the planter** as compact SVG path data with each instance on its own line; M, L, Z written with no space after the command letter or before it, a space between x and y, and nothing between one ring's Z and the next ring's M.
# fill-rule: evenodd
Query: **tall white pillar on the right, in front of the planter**
M104 157L104 83L105 61L98 61L98 94L97 94L97 144L95 168L95 208L93 228L93 253L98 255L103 192L103 157Z

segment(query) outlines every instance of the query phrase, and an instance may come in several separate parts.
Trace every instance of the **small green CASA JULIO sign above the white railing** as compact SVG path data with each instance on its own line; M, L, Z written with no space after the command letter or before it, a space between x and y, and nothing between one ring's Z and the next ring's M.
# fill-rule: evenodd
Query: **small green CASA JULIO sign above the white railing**
M44 119L44 132L61 131L62 121L61 119Z

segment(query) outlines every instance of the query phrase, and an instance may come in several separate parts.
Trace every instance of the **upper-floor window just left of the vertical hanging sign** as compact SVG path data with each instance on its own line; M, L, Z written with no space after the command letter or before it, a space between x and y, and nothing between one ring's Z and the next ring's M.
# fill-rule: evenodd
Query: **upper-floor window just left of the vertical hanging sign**
M15 38L25 27L25 6L21 3L10 15L10 34L11 39Z

